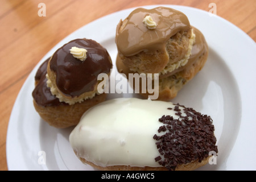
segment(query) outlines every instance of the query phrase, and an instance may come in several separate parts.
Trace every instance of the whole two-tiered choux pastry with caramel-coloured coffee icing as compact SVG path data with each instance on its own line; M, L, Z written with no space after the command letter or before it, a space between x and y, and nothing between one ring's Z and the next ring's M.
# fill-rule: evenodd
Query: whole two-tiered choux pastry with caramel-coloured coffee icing
M208 57L203 34L191 26L187 16L168 7L134 10L119 22L115 43L118 72L158 73L158 100L163 101L176 97ZM140 94L148 96L148 92Z

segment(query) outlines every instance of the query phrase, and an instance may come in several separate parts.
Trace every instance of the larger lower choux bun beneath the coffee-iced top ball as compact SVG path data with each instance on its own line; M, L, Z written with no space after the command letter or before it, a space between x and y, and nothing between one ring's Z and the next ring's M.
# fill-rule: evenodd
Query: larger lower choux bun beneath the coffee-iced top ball
M204 64L208 58L208 44L204 38L204 35L195 27L193 32L195 32L195 43L193 43L191 56L188 59L188 63L181 66L173 72L166 73L165 75L159 76L159 97L158 100L168 101L177 96L177 93L183 86L204 67ZM124 73L128 78L129 73L135 73L130 71L129 68L123 64L122 60L117 56L117 69L119 73ZM131 85L135 88L134 85ZM154 88L154 82L152 82L152 87ZM139 86L141 89L141 85ZM147 98L151 93L139 92L142 96Z

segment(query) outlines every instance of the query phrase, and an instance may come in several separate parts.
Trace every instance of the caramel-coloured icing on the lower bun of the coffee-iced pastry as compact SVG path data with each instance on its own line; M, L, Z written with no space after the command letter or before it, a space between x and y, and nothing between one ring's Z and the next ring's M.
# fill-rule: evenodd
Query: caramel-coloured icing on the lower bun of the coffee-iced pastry
M200 56L202 56L204 53L207 53L208 51L208 45L207 42L205 41L204 35L195 27L193 28L193 32L196 35L196 40L195 43L193 44L192 51L191 51L191 56L189 57L188 63L184 65L183 67L180 67L178 69L175 69L173 72L166 73L165 75L159 76L159 78L164 78L167 76L174 75L177 72L183 71L185 69L190 69L191 65L195 63L197 60L200 59ZM130 71L129 68L125 67L125 65L122 63L122 60L120 57L117 55L117 70L119 73L125 73L127 76L129 73L134 73Z

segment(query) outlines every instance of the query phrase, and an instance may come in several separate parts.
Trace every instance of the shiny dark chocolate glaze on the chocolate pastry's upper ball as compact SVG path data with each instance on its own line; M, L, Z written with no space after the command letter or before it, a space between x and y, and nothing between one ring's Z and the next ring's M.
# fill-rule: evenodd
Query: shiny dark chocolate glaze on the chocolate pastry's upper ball
M86 60L73 57L69 49L84 48ZM108 51L90 39L75 39L57 49L50 62L51 71L56 73L57 88L66 96L76 97L94 90L97 76L110 73L113 67Z

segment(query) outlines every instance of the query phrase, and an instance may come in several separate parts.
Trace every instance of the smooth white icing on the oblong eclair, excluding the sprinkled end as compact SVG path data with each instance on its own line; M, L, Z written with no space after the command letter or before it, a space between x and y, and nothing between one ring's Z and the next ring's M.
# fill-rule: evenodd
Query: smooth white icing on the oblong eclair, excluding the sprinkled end
M160 167L155 134L163 115L179 118L171 102L116 98L98 104L82 116L69 135L77 156L97 166ZM181 109L181 112L183 110Z

